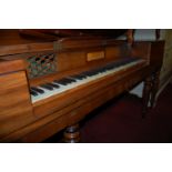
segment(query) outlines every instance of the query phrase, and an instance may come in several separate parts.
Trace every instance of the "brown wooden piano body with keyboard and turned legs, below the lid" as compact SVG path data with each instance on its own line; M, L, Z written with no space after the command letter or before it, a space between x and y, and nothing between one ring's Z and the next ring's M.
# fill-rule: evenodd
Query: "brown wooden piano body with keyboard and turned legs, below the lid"
M0 49L0 141L40 142L78 123L104 102L145 80L143 112L155 99L163 41L64 39ZM60 45L59 45L60 44Z

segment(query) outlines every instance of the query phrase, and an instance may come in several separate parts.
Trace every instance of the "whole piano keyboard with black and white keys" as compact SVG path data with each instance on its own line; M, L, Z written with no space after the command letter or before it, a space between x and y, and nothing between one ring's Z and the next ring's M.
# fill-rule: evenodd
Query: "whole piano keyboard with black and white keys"
M128 58L119 60L113 63L109 63L104 67L93 69L91 71L84 71L79 74L69 75L67 78L54 80L51 83L43 83L38 87L31 87L31 101L36 103L52 95L62 93L81 84L85 84L93 80L113 74L120 70L129 69L135 64L143 62L144 60L139 58Z

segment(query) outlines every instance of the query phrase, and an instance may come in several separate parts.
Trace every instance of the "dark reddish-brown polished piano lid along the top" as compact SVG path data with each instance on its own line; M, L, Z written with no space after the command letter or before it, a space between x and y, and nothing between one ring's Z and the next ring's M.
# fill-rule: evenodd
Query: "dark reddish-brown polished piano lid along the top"
M0 45L58 41L62 38L115 39L127 29L1 29Z

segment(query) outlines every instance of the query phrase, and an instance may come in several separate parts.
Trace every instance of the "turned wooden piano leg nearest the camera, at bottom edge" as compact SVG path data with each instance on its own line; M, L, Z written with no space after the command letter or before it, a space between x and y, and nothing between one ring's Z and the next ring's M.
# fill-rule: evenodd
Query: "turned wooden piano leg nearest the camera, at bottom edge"
M63 138L65 143L80 142L79 124L73 124L71 127L68 127L64 131Z

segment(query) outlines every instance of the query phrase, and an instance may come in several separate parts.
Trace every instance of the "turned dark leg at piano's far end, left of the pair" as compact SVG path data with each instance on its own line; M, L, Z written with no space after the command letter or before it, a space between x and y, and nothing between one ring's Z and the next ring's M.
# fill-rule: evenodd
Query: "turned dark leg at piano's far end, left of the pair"
M148 77L144 81L144 88L143 88L143 104L142 104L142 117L144 118L145 113L148 112L148 105L150 101L150 94L151 94L151 88L152 88L152 78Z

